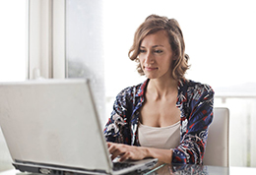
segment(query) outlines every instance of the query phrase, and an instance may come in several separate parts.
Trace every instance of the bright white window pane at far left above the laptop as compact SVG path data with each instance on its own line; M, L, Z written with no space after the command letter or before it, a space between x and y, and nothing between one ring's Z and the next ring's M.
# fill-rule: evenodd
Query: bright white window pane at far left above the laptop
M26 79L26 8L26 0L1 2L1 82L23 81Z

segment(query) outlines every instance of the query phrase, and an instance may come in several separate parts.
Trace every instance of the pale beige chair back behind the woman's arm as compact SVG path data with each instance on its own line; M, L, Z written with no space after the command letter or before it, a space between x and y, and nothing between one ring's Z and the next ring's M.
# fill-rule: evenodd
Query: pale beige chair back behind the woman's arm
M214 119L209 127L208 141L203 159L204 165L229 166L228 137L229 110L214 108Z

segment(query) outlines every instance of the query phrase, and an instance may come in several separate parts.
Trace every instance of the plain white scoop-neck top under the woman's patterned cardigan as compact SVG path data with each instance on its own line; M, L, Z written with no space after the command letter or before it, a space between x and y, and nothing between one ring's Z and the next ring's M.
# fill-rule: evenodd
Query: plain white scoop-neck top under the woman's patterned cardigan
M180 121L167 127L150 127L139 123L139 142L141 146L156 148L175 148L180 142Z

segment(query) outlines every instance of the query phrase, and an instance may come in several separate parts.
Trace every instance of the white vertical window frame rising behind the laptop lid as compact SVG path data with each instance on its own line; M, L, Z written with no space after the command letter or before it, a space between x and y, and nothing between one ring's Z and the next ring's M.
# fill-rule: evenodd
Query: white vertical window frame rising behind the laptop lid
M65 0L29 0L27 79L65 79Z

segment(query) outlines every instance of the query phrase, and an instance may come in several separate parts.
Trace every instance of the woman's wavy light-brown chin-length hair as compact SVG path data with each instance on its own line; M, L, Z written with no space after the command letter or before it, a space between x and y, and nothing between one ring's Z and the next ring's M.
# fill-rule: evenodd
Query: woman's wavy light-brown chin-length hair
M183 34L178 22L174 19L167 19L166 17L160 17L158 15L149 16L135 32L133 45L128 53L129 58L138 62L137 71L140 75L145 75L138 59L142 40L147 35L155 33L161 29L164 29L167 32L169 44L174 53L172 77L177 81L185 79L185 72L189 69L189 56L185 54Z

